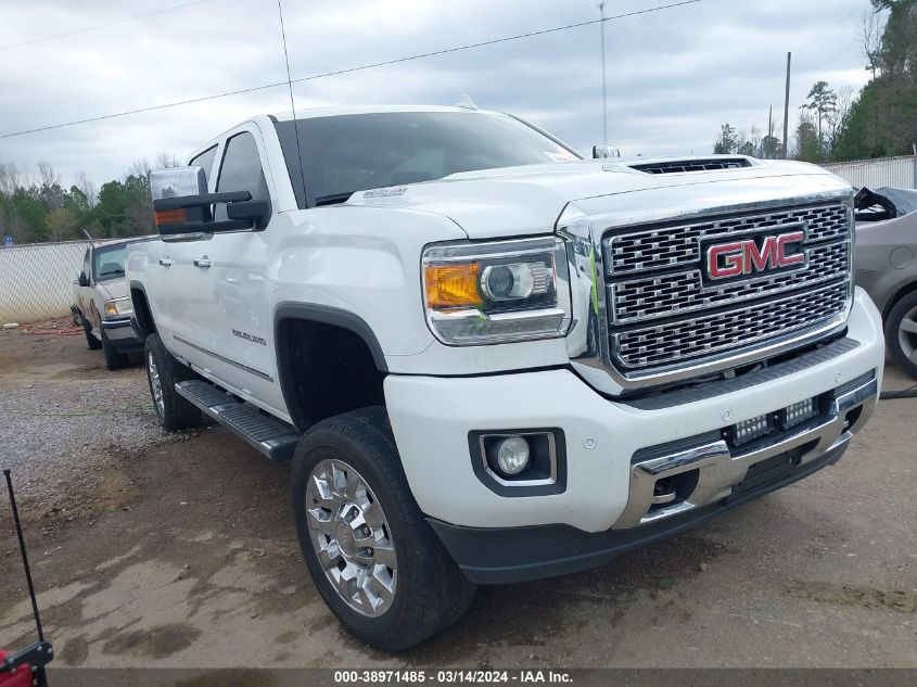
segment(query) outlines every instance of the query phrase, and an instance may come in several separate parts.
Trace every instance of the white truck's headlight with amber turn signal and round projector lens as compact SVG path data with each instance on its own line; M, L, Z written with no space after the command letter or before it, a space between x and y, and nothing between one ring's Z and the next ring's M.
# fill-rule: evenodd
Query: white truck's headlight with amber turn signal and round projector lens
M446 344L555 339L570 326L563 242L553 237L423 253L426 321Z

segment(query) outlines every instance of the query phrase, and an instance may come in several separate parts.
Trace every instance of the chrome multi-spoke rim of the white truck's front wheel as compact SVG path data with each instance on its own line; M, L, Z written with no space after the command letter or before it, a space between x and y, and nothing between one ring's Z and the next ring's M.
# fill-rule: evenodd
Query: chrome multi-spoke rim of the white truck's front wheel
M309 474L305 506L309 540L331 586L358 613L385 613L395 600L397 558L369 484L343 460L322 460Z

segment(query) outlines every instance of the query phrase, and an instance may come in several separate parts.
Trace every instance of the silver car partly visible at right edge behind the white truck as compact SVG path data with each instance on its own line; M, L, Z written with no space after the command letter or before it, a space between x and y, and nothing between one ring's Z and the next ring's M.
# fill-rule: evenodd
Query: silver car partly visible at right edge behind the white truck
M917 379L917 191L856 196L856 284L882 313L894 362Z

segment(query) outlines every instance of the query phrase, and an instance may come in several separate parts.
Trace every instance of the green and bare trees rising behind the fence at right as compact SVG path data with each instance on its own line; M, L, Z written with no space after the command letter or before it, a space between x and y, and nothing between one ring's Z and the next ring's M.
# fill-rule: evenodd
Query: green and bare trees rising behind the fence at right
M863 51L869 82L854 93L827 81L812 86L801 106L789 151L757 127L724 124L713 147L717 154L784 157L813 163L909 155L917 142L917 0L870 0L863 17ZM884 23L880 14L888 12Z

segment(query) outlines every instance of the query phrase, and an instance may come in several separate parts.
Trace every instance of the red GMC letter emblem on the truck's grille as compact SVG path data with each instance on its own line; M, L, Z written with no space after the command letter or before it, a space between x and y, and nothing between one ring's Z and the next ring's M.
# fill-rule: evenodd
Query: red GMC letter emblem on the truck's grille
M710 246L706 273L711 279L728 279L805 264L805 253L799 245L805 241L804 231L764 237L759 241L748 239Z

